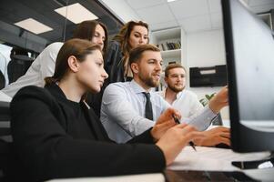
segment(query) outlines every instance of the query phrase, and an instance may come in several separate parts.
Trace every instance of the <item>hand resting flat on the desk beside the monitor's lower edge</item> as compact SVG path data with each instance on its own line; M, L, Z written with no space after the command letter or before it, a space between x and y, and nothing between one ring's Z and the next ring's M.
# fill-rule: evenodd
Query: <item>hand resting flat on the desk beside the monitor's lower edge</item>
M230 146L230 129L228 127L218 126L202 133L205 137L193 141L197 146L214 147L220 143Z

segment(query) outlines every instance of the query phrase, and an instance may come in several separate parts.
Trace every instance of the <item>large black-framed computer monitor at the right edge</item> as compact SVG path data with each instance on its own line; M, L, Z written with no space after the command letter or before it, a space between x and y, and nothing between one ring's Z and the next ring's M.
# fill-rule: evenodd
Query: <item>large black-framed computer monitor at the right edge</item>
M231 145L274 151L274 37L238 0L222 0Z

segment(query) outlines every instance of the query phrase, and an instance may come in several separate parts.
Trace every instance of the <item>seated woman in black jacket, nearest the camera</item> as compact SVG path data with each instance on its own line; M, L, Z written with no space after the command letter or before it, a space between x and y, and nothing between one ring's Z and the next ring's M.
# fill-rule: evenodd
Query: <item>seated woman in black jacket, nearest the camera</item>
M99 92L106 78L100 47L72 39L61 47L45 88L18 91L11 102L11 130L25 175L21 181L161 172L190 140L201 137L192 126L176 126L172 115L179 115L170 108L130 144L112 142L82 99L87 91Z

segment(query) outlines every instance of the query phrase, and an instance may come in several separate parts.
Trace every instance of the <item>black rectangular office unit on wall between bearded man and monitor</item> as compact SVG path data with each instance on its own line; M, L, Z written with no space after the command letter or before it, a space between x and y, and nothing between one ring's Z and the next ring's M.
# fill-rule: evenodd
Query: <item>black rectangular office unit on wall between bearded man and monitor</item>
M227 85L227 67L190 67L190 87L199 86L226 86Z

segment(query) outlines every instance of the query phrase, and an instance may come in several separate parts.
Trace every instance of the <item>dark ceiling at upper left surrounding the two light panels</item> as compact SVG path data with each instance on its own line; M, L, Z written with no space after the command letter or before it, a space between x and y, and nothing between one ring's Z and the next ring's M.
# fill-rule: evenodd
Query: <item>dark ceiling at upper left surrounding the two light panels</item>
M54 10L66 5L79 3L99 17L99 21L107 25L109 34L116 34L122 23L96 0L7 0L0 1L0 40L11 45L26 46L28 49L36 49L37 52L45 45L70 38L76 25ZM52 31L34 35L14 25L26 18L34 18L37 21L53 28ZM66 27L66 28L65 28ZM33 41L33 45L27 47L21 39Z

